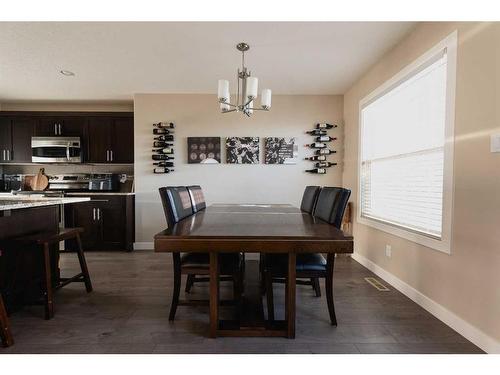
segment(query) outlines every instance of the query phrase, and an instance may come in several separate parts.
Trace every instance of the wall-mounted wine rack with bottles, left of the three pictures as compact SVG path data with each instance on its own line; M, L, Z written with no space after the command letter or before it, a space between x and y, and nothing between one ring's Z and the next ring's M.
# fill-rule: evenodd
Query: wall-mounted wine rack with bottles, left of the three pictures
M166 174L174 171L174 131L173 122L153 124L153 173Z

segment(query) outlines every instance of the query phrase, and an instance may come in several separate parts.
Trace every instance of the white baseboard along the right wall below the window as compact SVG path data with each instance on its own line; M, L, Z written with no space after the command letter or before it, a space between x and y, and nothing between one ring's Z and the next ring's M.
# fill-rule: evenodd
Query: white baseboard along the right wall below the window
M363 255L354 253L352 254L352 258L361 265L368 268L375 275L391 284L394 288L410 298L413 302L422 306L443 323L453 328L474 345L480 347L486 353L500 353L500 342L495 340L493 337L488 336L477 327L474 327L470 323L466 322L465 320L448 310L446 307L440 305L436 301L422 294L412 286L405 283L403 280L394 276L392 273L387 272L368 258L365 258Z

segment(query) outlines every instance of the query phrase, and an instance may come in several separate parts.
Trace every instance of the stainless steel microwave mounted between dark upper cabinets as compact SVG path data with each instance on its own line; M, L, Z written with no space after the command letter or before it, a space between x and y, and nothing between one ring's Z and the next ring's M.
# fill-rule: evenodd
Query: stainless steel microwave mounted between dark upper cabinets
M81 163L80 137L31 137L33 163Z

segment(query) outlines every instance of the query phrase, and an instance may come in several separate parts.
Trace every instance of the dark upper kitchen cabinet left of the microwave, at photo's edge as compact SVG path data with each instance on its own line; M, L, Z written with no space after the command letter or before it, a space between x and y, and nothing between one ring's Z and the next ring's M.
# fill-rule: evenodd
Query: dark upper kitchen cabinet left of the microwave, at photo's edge
M35 120L31 117L0 118L0 161L31 162L31 136Z

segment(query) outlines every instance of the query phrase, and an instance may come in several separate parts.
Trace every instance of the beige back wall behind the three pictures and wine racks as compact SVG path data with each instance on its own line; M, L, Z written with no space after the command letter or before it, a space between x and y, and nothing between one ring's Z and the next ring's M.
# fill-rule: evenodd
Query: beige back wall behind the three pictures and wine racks
M303 147L311 142L305 130L316 122L342 121L342 96L273 97L268 113L255 112L251 118L239 113L221 114L215 95L138 94L134 99L136 241L151 242L153 235L165 227L158 188L165 185L200 184L208 204L211 203L290 203L298 205L306 185L341 185L341 166L332 167L327 175L304 172L312 162L300 160L296 165L263 164L263 137L296 137L299 159L311 154ZM174 121L175 172L152 173L152 124ZM339 137L335 149L342 145L341 128L330 132ZM261 137L258 165L187 164L188 136ZM224 145L224 143L223 143ZM225 160L222 147L222 160ZM342 150L330 157L342 160Z

